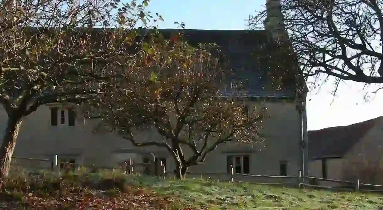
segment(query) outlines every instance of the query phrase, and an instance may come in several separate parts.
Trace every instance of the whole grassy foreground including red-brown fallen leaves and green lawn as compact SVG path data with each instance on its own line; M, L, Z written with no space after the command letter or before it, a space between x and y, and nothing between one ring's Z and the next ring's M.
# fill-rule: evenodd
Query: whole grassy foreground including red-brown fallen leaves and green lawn
M275 186L157 179L100 172L12 177L0 209L362 209L383 206L383 195Z

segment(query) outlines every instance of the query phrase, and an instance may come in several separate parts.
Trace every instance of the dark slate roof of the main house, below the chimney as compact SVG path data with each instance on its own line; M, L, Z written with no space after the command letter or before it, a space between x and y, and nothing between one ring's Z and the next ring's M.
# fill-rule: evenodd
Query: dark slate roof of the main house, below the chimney
M165 36L172 36L178 29L159 29ZM296 82L288 87L278 89L270 86L267 73L270 67L283 61L273 55L276 45L272 45L270 36L265 30L182 30L183 38L189 44L215 43L224 55L226 68L226 87L223 93L230 94L233 90L242 91L252 97L295 97ZM264 56L264 57L262 57ZM286 55L291 57L291 55ZM289 63L289 71L297 72L297 65ZM237 86L239 88L232 88Z

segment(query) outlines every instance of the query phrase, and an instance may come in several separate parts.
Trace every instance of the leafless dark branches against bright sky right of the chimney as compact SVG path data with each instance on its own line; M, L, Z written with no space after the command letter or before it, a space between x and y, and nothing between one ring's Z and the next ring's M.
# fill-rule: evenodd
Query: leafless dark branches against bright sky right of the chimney
M305 76L315 76L316 84L334 76L336 88L342 80L382 84L382 2L283 0L285 28ZM250 16L250 28L263 27L266 16L265 10Z

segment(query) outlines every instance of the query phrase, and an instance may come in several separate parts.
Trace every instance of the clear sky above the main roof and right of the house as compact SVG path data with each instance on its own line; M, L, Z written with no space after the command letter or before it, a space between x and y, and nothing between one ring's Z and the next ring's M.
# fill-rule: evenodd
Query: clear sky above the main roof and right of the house
M164 18L160 28L174 28L175 21L184 22L187 29L246 29L245 19L259 10L265 0L151 0L148 10ZM308 129L349 125L383 116L383 90L365 102L363 84L342 83L334 98L331 81L308 95ZM371 95L371 94L369 94ZM334 100L333 103L331 103Z

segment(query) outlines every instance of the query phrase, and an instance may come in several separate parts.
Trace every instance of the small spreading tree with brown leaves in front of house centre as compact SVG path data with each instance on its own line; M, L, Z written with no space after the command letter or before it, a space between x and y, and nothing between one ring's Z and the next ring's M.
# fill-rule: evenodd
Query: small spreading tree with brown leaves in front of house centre
M223 73L213 56L216 48L194 48L161 37L153 36L152 47L144 46L139 53L142 66L128 68L123 78L105 83L103 94L92 103L95 110L85 108L100 113L99 129L115 131L137 147L166 148L176 163L177 178L204 162L220 144L260 141L263 112L249 118L238 100L220 97ZM137 132L148 130L162 138L135 138Z

